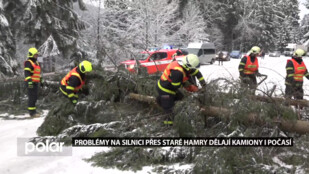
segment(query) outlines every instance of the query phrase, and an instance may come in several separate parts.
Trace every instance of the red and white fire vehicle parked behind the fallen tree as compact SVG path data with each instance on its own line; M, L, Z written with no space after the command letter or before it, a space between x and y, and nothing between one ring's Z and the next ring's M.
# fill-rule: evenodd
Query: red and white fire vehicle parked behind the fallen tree
M173 56L177 53L176 56ZM137 68L145 67L148 74L163 72L173 60L181 61L187 52L181 49L161 49L157 51L143 51L135 56L135 59L121 62L130 72L136 72ZM138 60L139 63L136 62ZM139 66L139 67L138 67Z

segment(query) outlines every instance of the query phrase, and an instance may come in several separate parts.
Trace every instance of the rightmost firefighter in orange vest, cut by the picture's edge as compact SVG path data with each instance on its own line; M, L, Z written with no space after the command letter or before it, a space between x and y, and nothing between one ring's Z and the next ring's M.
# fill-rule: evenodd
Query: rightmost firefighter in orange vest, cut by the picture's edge
M297 49L292 59L287 60L286 78L285 78L285 97L291 99L303 99L303 81L304 76L309 79L309 73L304 64L302 56L305 55L303 49Z

